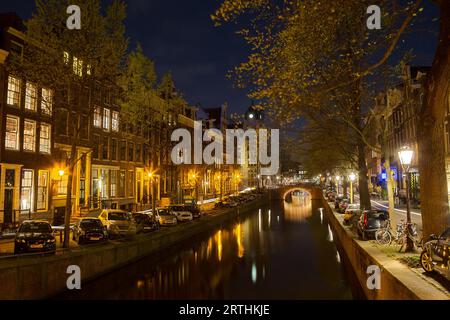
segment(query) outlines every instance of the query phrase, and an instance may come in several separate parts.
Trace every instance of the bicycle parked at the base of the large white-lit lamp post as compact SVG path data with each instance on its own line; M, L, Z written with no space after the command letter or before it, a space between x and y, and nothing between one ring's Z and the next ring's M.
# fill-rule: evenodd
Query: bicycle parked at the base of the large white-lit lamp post
M400 245L399 252L407 244L407 239L411 239L416 247L423 246L423 239L418 237L417 226L415 223L407 223L403 220L397 225L395 234L391 230L391 223L388 222L385 228L375 232L375 239L379 244L389 245L393 241Z

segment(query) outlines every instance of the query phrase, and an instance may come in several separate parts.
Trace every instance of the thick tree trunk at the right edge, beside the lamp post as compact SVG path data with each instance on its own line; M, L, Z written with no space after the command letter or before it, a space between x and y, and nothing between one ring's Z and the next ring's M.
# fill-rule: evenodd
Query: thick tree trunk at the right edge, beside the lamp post
M423 236L450 225L445 170L445 113L450 79L450 1L441 1L439 44L419 112L418 149Z

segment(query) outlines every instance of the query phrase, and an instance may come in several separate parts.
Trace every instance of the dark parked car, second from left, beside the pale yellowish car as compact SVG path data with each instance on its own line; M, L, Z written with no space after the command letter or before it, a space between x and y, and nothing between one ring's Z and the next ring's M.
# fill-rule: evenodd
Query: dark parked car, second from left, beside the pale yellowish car
M72 239L78 244L108 240L106 226L98 218L82 218L73 227Z

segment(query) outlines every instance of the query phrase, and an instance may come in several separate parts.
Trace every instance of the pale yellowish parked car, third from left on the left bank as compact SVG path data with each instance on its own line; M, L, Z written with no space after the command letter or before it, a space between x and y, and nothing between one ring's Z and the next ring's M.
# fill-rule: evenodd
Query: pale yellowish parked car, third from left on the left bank
M136 224L129 212L118 209L104 209L99 218L106 226L110 238L136 234Z

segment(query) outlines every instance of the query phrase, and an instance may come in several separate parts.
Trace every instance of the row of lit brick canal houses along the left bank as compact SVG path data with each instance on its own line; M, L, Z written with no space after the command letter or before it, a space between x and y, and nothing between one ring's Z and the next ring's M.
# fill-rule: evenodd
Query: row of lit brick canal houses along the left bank
M0 229L30 217L62 224L75 108L58 101L51 88L8 72L8 57L23 54L24 29L15 14L0 14L0 28ZM80 72L76 57L64 58ZM93 114L81 116L85 125L72 185L75 216L101 208L149 208L152 186L157 205L214 198L241 187L236 166L172 164L171 133L179 127L193 130L197 108L175 106L155 94L152 125L130 128L121 122L119 94L112 85L95 83L70 101L94 104ZM226 110L219 109L220 119L204 121L205 129L223 122Z

